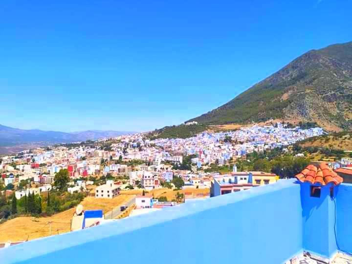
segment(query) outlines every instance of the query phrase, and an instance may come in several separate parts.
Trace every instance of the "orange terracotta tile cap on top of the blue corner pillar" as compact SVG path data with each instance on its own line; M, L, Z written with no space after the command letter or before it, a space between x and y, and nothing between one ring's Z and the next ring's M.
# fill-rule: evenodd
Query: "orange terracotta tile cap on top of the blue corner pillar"
M330 170L328 165L322 163L317 168L314 165L308 165L302 172L296 175L301 182L309 182L311 184L326 185L332 182L334 185L343 182L343 178Z

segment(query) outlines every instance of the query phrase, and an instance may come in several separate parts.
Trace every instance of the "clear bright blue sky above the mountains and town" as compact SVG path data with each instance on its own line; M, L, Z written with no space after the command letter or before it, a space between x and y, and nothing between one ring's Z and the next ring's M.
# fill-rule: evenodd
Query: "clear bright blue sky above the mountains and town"
M2 0L0 124L148 131L352 41L352 0Z

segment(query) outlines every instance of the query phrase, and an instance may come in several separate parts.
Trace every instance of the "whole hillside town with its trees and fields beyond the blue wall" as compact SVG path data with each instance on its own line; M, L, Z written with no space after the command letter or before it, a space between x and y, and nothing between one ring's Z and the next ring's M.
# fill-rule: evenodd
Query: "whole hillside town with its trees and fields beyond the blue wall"
M1 232L0 242L32 240L293 177L309 162L295 143L324 133L276 123L184 139L151 140L148 133L137 133L2 156L0 230L29 218L48 226ZM345 157L329 166L346 176L351 163ZM78 205L100 213L83 225L84 218L73 216ZM55 224L66 211L71 214L65 222Z

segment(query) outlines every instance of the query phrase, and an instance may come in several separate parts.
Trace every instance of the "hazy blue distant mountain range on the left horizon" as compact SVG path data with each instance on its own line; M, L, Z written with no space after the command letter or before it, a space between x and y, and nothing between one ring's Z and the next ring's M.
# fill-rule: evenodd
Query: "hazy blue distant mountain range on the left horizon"
M97 140L100 138L109 138L133 133L135 132L99 130L66 133L42 130L22 130L0 125L0 154L19 152L30 147L86 141L88 139Z

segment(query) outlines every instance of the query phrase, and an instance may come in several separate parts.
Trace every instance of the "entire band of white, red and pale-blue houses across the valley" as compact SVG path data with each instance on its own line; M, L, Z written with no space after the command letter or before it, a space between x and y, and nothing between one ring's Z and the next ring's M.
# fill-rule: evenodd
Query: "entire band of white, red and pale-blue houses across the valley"
M70 183L69 192L86 190L87 182L92 184L88 180L90 176L123 176L127 179L99 186L95 193L99 198L113 198L118 195L117 190L127 186L146 190L160 188L163 182L172 182L175 177L183 179L184 188L210 188L212 180L217 179L218 175L204 173L203 166L227 164L230 159L253 151L263 152L287 146L322 133L320 128L286 128L278 123L276 126L254 125L234 132L203 132L186 139L149 140L143 133L123 135L112 142L100 140L87 146L38 148L2 157L0 181L5 186L12 184L18 187L22 180L30 180L39 188L32 191L40 192L52 188L55 174L67 169L71 179L75 179ZM108 148L102 147L105 142L111 142ZM173 170L173 164L182 164L184 157L192 154L191 170ZM139 162L129 163L134 160ZM256 182L251 184L255 185ZM15 189L18 197L32 192Z

